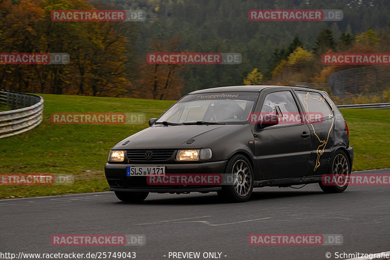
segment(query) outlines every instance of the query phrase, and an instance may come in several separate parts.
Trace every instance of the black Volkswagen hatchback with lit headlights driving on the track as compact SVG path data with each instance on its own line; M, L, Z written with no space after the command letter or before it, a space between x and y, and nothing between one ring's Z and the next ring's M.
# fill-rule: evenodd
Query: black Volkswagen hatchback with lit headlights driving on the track
M125 202L149 192L207 193L244 202L254 187L319 183L343 192L351 174L348 126L326 92L282 86L199 90L112 148L105 175Z

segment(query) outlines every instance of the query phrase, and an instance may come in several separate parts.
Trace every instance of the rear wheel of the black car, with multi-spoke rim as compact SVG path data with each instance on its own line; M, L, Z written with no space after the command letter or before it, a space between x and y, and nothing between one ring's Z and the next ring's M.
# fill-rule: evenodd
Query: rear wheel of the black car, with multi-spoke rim
M327 175L335 178L335 180L341 178L344 182L334 183L334 185L324 185L321 181L319 185L325 193L341 193L348 187L348 180L351 176L350 161L345 151L337 150L331 162Z

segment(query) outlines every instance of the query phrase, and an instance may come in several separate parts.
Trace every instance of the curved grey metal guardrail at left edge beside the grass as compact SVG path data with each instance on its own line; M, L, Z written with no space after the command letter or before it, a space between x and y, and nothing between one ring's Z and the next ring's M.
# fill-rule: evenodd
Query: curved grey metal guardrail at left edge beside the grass
M17 135L38 126L43 119L43 98L0 90L0 103L20 109L0 112L0 138Z

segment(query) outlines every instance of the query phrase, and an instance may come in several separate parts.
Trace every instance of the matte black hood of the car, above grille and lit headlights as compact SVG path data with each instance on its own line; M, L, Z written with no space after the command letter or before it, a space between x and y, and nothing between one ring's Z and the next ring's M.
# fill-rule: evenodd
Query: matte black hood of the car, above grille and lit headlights
M245 125L152 126L120 141L113 149L206 148L224 135L242 130ZM191 144L188 141L194 139ZM129 141L127 144L123 145Z

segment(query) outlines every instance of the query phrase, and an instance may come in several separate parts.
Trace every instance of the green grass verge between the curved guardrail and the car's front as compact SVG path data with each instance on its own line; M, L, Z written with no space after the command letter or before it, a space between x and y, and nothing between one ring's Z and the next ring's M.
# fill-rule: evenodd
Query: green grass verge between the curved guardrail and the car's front
M174 101L40 94L44 118L39 127L0 139L0 173L73 174L71 186L0 186L0 199L107 191L104 164L120 140L148 127L139 125L57 125L55 112L145 113L157 117Z

